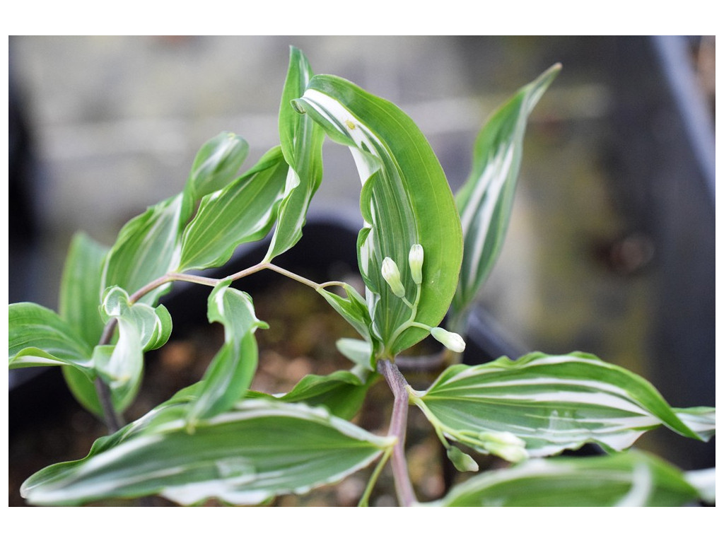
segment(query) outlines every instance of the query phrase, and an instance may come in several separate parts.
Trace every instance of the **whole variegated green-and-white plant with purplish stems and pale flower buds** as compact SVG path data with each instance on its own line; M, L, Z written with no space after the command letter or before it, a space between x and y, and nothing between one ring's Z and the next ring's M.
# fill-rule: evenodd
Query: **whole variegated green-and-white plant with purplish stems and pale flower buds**
M150 495L183 505L212 498L256 505L374 465L359 496L366 505L389 462L400 505L712 502L713 470L685 473L631 447L659 426L710 439L715 410L672 408L645 379L594 355L531 353L475 365L442 356L442 371L424 390L403 374L400 353L428 336L446 353L466 348L468 313L508 226L529 114L559 71L551 67L492 114L474 145L471 174L453 195L408 115L340 77L313 75L292 48L278 146L239 173L246 140L229 132L211 138L182 192L131 219L110 248L74 237L58 312L9 306L9 368L61 366L77 401L109 429L85 458L30 476L22 496L35 505ZM361 181L363 292L275 263L303 234L325 138L350 149ZM268 250L257 264L213 277L240 245L264 239ZM235 285L261 270L311 287L351 324L359 337L337 342L350 368L307 375L280 395L251 390L256 334L268 325ZM171 334L172 315L159 300L174 282L209 287L207 315L222 325L223 345L201 381L126 424L144 353ZM353 422L380 375L392 392L384 436ZM458 470L479 470L471 454L510 467L470 476L421 504L405 460L409 405ZM560 457L586 443L601 454Z

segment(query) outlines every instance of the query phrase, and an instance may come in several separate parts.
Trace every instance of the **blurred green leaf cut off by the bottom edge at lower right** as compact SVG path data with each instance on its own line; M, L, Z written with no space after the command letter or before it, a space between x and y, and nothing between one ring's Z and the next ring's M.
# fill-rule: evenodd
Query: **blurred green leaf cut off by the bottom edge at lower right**
M678 507L706 498L686 473L638 451L538 458L487 471L453 487L448 507Z

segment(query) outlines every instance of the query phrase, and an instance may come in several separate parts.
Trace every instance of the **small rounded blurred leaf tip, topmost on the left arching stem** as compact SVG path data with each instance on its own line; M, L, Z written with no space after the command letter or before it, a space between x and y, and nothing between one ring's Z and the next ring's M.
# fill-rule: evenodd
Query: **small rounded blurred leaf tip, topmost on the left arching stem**
M214 136L196 153L185 192L196 201L221 190L237 177L248 153L249 144L244 138L232 132L221 132Z

